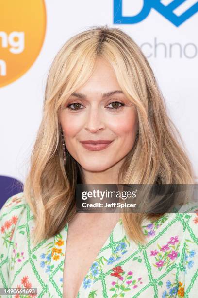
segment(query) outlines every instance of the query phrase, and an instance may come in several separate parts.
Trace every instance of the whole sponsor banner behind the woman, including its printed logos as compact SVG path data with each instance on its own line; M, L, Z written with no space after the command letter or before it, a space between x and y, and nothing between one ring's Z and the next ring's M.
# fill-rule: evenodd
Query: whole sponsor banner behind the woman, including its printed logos
M54 56L91 26L141 47L198 175L197 0L0 1L0 207L22 191Z

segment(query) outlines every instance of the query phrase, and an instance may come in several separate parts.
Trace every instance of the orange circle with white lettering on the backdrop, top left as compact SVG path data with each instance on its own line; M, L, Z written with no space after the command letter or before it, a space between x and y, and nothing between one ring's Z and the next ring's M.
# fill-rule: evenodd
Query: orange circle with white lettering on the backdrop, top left
M0 3L0 87L24 75L35 62L46 32L44 0Z

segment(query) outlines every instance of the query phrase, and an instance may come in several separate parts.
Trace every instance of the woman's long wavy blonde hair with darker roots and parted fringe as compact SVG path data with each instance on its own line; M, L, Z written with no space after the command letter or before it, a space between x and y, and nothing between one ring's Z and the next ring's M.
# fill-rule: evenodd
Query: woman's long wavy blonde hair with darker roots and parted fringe
M63 45L49 71L43 118L24 185L35 216L34 243L60 232L76 213L75 187L83 177L67 150L64 166L59 113L71 93L92 75L99 57L112 65L138 114L138 138L120 168L119 183L194 183L180 134L166 113L163 95L140 48L118 28L90 27ZM128 236L144 242L140 229L144 214L124 213L121 217Z

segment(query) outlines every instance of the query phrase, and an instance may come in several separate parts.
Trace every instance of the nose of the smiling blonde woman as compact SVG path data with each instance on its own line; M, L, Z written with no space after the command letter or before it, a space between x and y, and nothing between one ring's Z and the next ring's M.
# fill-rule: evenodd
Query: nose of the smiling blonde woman
M87 113L85 129L91 133L104 129L104 115L99 108L91 108Z

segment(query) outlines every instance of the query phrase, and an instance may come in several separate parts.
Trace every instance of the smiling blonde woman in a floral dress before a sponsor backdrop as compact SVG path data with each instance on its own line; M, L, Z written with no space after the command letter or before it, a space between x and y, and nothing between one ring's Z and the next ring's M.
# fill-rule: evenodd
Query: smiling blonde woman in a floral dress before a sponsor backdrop
M196 297L198 213L75 205L77 184L193 184L176 133L131 37L107 26L71 37L49 71L24 192L1 209L1 287L55 298Z

